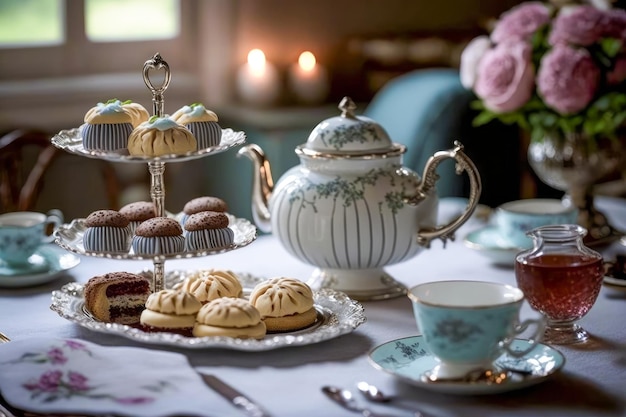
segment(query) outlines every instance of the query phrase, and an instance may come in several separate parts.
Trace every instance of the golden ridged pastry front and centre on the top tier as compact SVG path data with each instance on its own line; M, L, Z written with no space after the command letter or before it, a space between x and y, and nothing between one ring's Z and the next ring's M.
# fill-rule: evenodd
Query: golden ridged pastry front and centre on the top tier
M182 155L197 149L193 133L168 117L152 116L128 138L128 152L135 156Z

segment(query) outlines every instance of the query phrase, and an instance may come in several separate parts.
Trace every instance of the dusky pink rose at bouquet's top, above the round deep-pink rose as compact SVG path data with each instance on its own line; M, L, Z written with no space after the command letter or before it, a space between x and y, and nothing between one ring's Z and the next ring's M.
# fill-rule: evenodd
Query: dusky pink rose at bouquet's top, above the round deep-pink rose
M548 42L550 45L591 45L602 37L605 18L605 12L593 6L565 6L554 18Z

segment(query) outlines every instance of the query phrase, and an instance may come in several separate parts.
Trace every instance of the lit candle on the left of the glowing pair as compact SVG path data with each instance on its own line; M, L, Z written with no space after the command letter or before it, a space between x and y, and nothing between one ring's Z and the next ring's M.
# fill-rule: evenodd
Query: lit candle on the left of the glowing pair
M248 52L248 62L237 74L237 88L240 98L249 104L271 105L278 99L278 71L267 62L262 50L253 49Z

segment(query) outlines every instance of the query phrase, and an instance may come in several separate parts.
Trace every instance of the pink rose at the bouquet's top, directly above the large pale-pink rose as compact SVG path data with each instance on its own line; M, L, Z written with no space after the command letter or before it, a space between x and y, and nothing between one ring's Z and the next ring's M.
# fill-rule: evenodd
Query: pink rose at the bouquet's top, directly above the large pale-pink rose
M538 1L519 4L502 13L491 32L494 43L529 41L532 35L550 22L551 9Z

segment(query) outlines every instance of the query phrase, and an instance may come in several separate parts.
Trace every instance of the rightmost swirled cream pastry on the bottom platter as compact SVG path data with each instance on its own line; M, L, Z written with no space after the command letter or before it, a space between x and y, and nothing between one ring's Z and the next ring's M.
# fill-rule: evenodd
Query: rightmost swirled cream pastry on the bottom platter
M317 320L313 292L294 278L272 278L257 284L250 304L261 313L268 332L302 329Z

